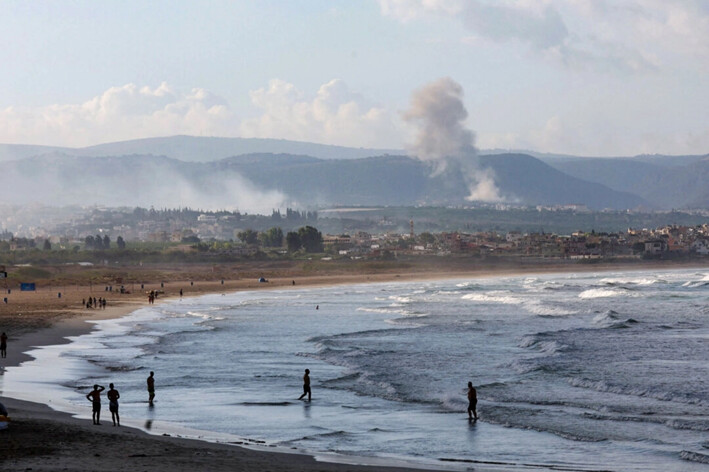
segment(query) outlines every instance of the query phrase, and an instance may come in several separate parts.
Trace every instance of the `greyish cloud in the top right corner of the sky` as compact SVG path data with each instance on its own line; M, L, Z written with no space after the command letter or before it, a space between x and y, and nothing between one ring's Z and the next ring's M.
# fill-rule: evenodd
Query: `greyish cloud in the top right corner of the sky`
M704 0L379 0L385 16L459 21L477 37L527 46L573 68L645 72L709 56ZM472 42L471 38L465 38Z

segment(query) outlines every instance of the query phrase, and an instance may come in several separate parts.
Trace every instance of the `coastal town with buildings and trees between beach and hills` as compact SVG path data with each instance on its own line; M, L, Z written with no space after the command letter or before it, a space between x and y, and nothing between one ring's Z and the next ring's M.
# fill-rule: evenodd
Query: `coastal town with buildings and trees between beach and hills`
M619 231L441 230L428 220L378 216L369 220L335 220L317 211L270 216L196 210L130 211L95 209L63 214L43 224L0 226L0 254L32 251L121 251L138 247L196 251L207 259L322 257L392 259L400 256L477 256L481 258L678 259L709 255L709 224L671 224ZM343 221L345 223L343 223ZM457 223L461 226L461 223ZM339 226L338 226L339 225ZM470 226L470 225L467 225ZM423 227L423 230L420 229ZM7 228L13 228L14 233ZM307 231L306 228L308 229ZM365 230L366 229L366 230ZM309 233L308 233L309 232ZM306 241L307 240L307 241Z

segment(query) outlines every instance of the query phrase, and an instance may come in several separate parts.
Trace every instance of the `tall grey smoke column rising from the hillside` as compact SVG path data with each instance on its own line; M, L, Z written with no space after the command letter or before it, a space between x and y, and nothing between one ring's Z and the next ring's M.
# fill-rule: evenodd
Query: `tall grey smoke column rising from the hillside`
M403 113L404 120L417 128L407 151L431 165L432 177L459 170L468 186L467 200L502 201L492 169L477 165L475 134L464 124L467 117L459 83L443 77L424 85L411 94Z

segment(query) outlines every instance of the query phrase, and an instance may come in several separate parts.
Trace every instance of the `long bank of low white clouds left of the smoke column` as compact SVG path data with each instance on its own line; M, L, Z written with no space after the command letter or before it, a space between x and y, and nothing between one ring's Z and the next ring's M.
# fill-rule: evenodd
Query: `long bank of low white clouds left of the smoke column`
M167 83L156 88L126 84L78 104L0 109L0 142L83 147L187 134L400 146L395 115L369 105L341 80L331 80L308 97L274 79L250 96L258 114L240 119L226 100L202 88L181 92Z

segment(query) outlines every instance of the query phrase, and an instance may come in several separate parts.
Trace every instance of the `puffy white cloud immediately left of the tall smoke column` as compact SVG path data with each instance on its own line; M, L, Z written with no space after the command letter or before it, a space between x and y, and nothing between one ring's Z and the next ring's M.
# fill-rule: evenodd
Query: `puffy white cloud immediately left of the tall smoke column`
M368 104L339 79L308 96L293 84L271 80L251 92L261 114L244 120L244 137L279 137L344 146L398 146L400 130L385 108Z

